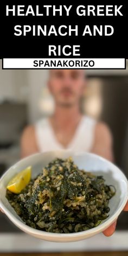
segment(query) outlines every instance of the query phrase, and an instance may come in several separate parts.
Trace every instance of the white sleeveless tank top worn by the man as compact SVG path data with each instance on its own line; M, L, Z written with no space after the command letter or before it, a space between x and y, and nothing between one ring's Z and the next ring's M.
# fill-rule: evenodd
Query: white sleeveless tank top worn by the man
M94 142L96 121L88 116L83 116L72 141L66 149L89 152ZM36 142L40 152L62 150L65 147L57 141L55 133L48 118L43 118L35 124Z

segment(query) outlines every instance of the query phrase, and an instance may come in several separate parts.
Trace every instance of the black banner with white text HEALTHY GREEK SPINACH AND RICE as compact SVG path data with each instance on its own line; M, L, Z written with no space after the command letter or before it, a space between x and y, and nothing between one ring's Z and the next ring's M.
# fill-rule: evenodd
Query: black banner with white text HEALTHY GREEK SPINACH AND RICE
M1 59L128 59L126 1L2 2Z

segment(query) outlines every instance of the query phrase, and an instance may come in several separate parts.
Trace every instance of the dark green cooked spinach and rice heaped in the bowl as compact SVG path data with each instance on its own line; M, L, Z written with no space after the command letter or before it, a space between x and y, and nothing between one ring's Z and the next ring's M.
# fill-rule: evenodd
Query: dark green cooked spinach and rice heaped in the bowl
M30 227L73 233L96 227L108 217L115 194L103 176L79 170L71 157L55 159L31 180L20 195L7 190L7 199Z

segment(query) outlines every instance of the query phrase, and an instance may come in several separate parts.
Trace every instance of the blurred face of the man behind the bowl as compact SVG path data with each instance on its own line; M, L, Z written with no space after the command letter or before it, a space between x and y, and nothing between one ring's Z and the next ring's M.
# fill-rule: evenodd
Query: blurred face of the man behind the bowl
M85 72L82 69L51 70L48 86L56 104L71 107L79 103L84 92Z

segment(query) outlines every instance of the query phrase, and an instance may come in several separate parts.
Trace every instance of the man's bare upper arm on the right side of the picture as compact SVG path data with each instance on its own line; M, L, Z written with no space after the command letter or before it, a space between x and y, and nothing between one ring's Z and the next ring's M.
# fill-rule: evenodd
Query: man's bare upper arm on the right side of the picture
M110 129L104 123L98 123L95 127L94 144L91 150L99 156L103 156L109 161L113 161L113 140Z

